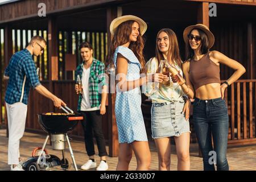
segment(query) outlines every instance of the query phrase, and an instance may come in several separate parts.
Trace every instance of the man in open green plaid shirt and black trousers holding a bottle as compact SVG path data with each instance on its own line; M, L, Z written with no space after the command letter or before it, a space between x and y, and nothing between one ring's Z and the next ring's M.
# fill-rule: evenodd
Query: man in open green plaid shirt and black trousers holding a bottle
M94 133L101 158L97 171L106 171L108 169L106 155L108 154L102 133L102 115L106 113L107 97L105 66L101 61L93 58L93 48L90 43L82 43L79 49L83 62L76 69L75 79L79 80L77 79L79 76L82 89L79 89L79 85L76 84L75 90L79 94L77 110L84 115L82 126L84 129L85 149L89 156L88 162L82 165L81 169L87 170L97 167L96 160L94 159Z

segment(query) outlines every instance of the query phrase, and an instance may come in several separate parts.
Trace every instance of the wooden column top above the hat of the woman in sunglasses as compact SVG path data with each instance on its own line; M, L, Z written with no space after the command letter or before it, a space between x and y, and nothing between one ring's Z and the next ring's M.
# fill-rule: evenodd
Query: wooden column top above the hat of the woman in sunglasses
M209 3L200 2L197 10L197 23L204 24L209 27Z

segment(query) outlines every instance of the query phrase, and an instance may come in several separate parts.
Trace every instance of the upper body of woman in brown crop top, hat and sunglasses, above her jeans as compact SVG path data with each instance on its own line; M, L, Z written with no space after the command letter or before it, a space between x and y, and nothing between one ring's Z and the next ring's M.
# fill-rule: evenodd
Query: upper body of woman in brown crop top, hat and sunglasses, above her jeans
M214 35L204 24L196 24L185 28L183 38L187 44L188 53L187 61L183 64L186 80L186 83L182 86L184 92L190 98L196 97L200 100L219 97L223 99L225 89L245 73L245 68L221 52L209 51L214 44ZM220 83L220 64L225 64L236 70L224 84ZM212 72L204 75L207 65L209 65ZM209 69L206 71L209 71Z

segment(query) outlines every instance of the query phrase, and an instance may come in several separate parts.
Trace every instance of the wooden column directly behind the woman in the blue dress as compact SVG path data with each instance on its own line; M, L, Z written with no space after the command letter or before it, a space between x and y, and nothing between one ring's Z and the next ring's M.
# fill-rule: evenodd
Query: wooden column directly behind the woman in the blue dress
M113 19L117 18L117 7L109 7L107 9L107 32L108 32L108 48L110 48L111 43L111 34L110 34L110 23ZM109 80L110 83L110 80ZM110 90L110 84L109 84ZM109 91L110 92L110 91ZM108 94L108 121L109 121L109 156L115 157L118 156L118 131L117 123L115 121L115 93Z

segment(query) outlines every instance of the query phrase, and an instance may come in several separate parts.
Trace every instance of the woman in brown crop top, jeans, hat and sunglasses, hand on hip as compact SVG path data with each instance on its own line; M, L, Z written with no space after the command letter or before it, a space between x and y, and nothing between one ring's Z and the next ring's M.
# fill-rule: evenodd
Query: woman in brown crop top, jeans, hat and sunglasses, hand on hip
M193 124L203 154L204 170L215 170L216 162L217 170L229 170L226 160L229 117L224 91L245 73L245 68L221 52L209 51L214 44L214 35L204 24L185 28L183 38L188 55L183 63L185 81L180 81L180 85L189 98L195 98ZM220 82L220 64L235 70L223 84ZM212 155L216 157L214 162Z

